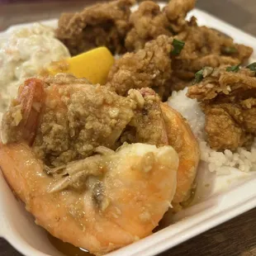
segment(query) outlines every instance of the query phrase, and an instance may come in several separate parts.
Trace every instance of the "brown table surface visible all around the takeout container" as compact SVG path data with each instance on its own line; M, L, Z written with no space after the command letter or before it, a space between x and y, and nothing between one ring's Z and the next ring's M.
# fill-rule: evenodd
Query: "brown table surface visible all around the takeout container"
M14 1L0 5L0 31L21 22L59 17L61 12L77 11L91 2L95 1ZM256 0L198 0L197 7L256 36ZM21 256L3 239L0 255ZM256 209L161 254L167 255L256 255Z

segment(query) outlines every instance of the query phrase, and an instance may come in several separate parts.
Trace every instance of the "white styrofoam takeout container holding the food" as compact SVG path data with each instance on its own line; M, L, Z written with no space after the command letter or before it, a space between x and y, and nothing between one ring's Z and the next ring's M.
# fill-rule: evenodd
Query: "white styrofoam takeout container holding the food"
M163 6L163 5L162 5ZM188 14L197 17L199 25L216 28L232 36L236 42L250 45L256 53L256 38L239 31L233 26L212 17L206 12L193 10ZM49 26L57 26L56 20L41 21ZM12 26L0 33L0 40L13 29L31 26ZM251 61L256 59L254 53ZM205 186L210 184L210 186ZM226 220L242 214L256 206L256 173L242 173L230 168L230 174L216 176L201 163L197 173L198 189L193 205L173 216L173 225L160 230L145 239L125 248L107 254L109 256L149 256L182 243ZM0 236L12 244L21 254L27 256L61 256L47 238L46 231L34 223L33 217L12 194L0 172Z

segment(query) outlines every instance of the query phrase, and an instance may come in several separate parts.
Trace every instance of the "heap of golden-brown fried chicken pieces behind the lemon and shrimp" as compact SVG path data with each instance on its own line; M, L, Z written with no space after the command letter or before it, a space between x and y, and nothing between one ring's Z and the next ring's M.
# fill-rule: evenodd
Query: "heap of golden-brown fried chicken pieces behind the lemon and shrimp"
M241 64L253 52L219 31L197 26L195 17L187 21L195 2L172 0L160 10L157 3L145 1L135 12L130 12L134 0L99 3L80 13L64 14L56 35L72 55L99 45L112 53L131 52L111 69L111 88L120 95L130 88L154 88L165 99L173 90L190 86L204 66ZM185 43L178 55L169 55L173 38Z

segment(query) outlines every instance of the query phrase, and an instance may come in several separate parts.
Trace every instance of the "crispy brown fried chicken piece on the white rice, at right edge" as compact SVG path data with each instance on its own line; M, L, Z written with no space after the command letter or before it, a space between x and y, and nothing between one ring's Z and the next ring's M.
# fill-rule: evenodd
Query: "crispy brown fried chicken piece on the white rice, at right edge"
M201 83L190 87L187 97L196 98L206 114L206 135L212 149L235 150L252 143L256 135L255 72L214 69Z

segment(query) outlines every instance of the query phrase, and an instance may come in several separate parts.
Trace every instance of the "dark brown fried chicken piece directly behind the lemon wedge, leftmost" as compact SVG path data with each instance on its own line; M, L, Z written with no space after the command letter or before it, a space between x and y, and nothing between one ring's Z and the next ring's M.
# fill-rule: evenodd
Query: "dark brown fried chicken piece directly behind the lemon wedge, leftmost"
M112 53L124 53L129 30L130 6L134 0L117 0L86 7L79 13L64 13L59 18L56 37L71 55L105 45Z

